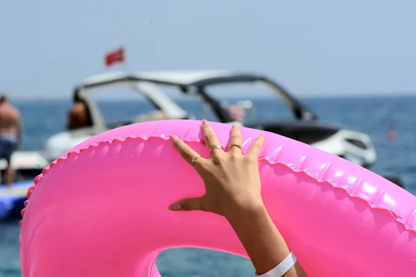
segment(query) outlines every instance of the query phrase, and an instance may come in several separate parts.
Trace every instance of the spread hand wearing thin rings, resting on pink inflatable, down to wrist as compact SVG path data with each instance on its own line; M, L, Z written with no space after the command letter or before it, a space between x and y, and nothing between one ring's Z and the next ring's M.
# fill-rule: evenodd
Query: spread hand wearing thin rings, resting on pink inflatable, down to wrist
M241 153L241 132L238 127L230 130L229 150L224 152L207 120L202 120L202 133L211 151L211 159L203 159L182 140L171 135L175 149L198 172L205 184L202 197L182 199L169 206L173 211L207 211L224 215L233 211L262 207L258 158L263 146L259 136L247 154Z

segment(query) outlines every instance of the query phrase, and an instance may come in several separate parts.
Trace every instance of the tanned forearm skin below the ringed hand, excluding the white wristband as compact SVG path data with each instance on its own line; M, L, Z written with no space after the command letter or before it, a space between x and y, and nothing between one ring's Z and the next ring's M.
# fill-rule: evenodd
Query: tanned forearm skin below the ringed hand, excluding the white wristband
M257 274L270 271L290 253L263 204L234 208L226 217L250 256ZM303 277L306 274L296 263L284 276Z

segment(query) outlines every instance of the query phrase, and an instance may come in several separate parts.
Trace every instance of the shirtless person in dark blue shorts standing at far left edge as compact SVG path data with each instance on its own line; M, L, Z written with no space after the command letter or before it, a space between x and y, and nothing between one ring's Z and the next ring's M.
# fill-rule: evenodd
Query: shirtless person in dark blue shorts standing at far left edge
M13 152L21 149L21 134L20 112L10 104L8 97L3 94L0 96L0 159L4 159L7 163L6 185L8 187L15 179L15 170L10 161Z

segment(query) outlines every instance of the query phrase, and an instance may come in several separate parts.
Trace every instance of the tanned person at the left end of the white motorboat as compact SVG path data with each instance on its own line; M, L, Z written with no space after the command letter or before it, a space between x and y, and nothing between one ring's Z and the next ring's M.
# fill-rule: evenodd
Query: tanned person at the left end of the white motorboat
M78 93L75 93L73 106L68 113L67 129L75 130L91 126L92 120L87 104L78 96Z

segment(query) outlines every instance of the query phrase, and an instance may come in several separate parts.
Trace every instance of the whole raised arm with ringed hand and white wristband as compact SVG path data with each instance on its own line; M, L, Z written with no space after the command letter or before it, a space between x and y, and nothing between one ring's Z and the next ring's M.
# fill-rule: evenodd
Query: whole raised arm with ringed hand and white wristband
M202 133L211 159L200 157L176 136L171 135L170 138L175 149L204 181L206 193L202 197L181 199L168 208L172 211L205 211L223 215L250 256L258 276L306 276L261 199L258 159L264 143L263 136L259 136L243 155L238 127L232 126L228 152L221 149L218 137L207 120L202 120Z

